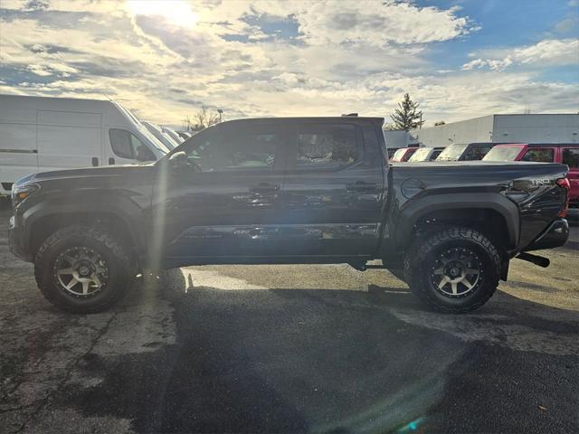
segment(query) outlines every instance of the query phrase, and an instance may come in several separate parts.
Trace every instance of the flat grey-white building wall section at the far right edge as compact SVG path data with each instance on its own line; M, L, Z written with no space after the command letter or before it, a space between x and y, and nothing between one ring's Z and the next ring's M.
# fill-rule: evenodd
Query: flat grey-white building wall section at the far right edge
M495 115L492 141L578 143L579 115Z

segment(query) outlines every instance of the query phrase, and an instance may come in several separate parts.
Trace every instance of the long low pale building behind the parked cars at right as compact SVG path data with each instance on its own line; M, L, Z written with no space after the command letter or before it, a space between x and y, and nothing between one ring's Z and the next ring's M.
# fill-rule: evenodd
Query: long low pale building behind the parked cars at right
M391 147L414 143L420 146L474 142L579 143L579 114L489 115L408 133L384 131L384 137Z

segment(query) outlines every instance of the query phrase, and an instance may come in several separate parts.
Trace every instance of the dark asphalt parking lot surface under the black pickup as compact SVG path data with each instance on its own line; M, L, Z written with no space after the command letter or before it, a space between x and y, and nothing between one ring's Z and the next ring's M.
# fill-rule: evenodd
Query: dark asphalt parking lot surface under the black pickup
M8 252L8 216L1 432L579 432L579 227L469 315L304 265L174 269L75 316Z

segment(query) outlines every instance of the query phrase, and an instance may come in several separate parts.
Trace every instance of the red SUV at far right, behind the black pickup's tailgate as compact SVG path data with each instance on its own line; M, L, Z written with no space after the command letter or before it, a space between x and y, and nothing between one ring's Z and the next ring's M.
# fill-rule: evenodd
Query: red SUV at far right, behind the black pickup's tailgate
M493 147L483 161L536 161L563 163L569 167L569 206L579 208L579 144L533 143L508 144Z

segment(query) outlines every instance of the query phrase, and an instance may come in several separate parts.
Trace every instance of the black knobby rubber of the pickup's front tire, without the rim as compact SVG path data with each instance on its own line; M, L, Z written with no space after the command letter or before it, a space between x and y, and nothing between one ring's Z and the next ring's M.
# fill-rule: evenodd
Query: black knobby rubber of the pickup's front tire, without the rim
M54 281L53 267L58 255L73 246L98 251L109 265L108 283L93 297L74 297ZM34 277L44 298L55 307L75 314L92 314L111 307L128 293L135 274L134 261L127 249L105 231L84 226L55 231L43 241L34 259Z

